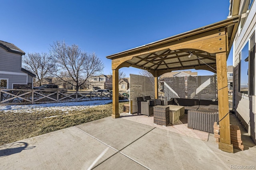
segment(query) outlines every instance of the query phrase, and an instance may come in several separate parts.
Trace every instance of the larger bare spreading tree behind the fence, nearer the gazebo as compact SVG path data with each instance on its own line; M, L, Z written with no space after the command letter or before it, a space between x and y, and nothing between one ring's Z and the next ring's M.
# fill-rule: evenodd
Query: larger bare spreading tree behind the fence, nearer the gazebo
M64 41L50 45L50 55L55 63L52 74L78 88L92 75L102 72L104 64L95 53L81 52L78 45L68 46Z

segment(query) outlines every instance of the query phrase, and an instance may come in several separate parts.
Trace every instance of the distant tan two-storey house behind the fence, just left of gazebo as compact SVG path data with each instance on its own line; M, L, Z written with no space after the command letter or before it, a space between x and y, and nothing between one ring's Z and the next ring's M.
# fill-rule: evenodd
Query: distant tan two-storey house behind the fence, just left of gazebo
M99 76L91 76L89 83L87 84L88 89L99 87L101 89L112 89L112 76L101 74Z

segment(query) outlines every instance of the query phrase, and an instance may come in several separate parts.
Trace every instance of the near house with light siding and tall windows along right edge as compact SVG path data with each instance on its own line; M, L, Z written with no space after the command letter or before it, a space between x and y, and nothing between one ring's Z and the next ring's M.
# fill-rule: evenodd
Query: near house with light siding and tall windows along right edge
M233 43L233 107L235 114L256 142L256 1L232 0L230 3L230 17L241 16Z

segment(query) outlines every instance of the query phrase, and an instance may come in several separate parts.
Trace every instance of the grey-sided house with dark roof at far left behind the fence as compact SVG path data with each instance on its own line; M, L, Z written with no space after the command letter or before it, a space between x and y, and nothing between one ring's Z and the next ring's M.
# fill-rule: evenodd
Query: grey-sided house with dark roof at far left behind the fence
M0 88L32 88L32 72L22 68L24 51L12 43L0 41Z

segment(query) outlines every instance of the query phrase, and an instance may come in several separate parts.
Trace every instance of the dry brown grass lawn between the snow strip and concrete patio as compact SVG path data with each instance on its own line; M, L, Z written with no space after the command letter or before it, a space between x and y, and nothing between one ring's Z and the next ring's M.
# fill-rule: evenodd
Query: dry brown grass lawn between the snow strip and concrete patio
M119 113L122 113L122 106L127 103L129 102L119 103ZM11 111L3 113L0 111L0 146L108 117L111 114L112 103L68 113L54 110L50 113L12 113ZM55 115L58 117L44 118Z

